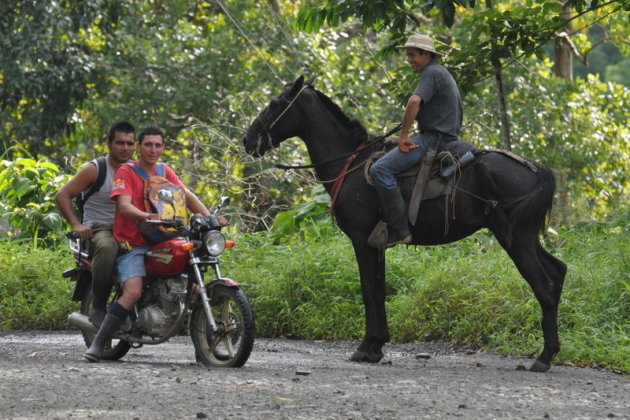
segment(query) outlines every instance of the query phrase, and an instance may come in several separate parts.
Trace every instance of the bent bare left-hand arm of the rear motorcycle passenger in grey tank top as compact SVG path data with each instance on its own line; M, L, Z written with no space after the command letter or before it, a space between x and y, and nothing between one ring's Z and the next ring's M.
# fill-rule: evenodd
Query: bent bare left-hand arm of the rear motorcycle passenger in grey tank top
M98 175L96 166L88 163L74 176L70 181L66 183L59 192L55 195L55 203L59 208L59 211L66 218L72 229L79 234L81 239L90 239L92 237L92 229L81 223L78 216L74 212L72 206L72 199L81 194L81 191L86 190L94 181Z

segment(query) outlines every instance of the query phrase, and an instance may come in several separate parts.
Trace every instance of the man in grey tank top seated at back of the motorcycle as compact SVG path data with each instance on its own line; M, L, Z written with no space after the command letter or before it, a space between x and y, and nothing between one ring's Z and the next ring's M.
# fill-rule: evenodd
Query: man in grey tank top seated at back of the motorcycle
M128 122L118 122L109 128L105 162L107 172L100 189L91 194L83 207L83 219L75 213L72 200L85 193L98 177L97 160L83 168L55 196L57 207L81 239L87 240L92 255L92 312L90 321L100 327L107 312L112 276L116 269L118 243L112 235L116 203L109 196L116 169L129 161L134 151L135 129Z

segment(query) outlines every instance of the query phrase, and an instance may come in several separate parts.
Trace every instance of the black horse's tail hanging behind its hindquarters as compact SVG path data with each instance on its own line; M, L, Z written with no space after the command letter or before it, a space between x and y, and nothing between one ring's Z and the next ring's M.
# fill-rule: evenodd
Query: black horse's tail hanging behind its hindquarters
M510 203L509 221L515 224L531 226L544 232L545 222L553 205L556 191L556 179L553 172L542 165L538 168L536 186L526 195Z

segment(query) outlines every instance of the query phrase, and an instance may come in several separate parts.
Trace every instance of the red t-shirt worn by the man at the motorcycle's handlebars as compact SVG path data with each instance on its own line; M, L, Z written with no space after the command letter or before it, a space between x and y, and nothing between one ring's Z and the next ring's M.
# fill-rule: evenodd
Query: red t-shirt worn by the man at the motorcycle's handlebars
M173 184L185 188L175 172L170 167L164 166L165 178ZM155 169L151 175L156 175ZM131 196L131 204L142 211L148 211L144 208L144 179L128 165L120 165L114 175L110 198L117 200L119 195ZM149 245L149 242L140 233L137 223L135 220L127 219L116 210L116 215L114 216L114 238L118 242L128 241L132 246Z

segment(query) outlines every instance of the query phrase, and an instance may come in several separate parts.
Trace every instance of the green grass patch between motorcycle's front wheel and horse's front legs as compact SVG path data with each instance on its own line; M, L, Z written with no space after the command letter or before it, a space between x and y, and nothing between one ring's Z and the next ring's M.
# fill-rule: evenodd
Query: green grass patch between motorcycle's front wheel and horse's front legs
M258 335L359 338L363 305L347 241L327 235L276 246L269 239L249 234L223 257L253 304Z

